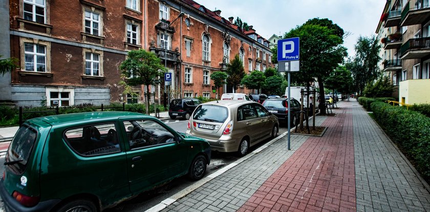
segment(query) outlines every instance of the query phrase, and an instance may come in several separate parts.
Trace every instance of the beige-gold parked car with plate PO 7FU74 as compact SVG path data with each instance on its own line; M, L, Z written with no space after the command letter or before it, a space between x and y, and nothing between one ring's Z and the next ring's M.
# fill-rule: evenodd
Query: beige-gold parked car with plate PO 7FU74
M238 152L276 137L279 122L263 105L250 101L211 101L200 104L188 122L187 135L209 141L212 151Z

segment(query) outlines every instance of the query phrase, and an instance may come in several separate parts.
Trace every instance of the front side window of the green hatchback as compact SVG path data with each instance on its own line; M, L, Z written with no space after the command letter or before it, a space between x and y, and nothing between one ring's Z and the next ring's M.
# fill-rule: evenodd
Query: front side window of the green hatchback
M175 136L154 120L124 121L130 149L175 142Z

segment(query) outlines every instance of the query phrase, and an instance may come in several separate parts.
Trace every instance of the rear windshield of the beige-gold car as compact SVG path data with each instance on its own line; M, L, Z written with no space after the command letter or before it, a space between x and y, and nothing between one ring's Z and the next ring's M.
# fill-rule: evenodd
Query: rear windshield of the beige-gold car
M193 114L192 119L223 123L227 119L228 110L218 105L200 105Z

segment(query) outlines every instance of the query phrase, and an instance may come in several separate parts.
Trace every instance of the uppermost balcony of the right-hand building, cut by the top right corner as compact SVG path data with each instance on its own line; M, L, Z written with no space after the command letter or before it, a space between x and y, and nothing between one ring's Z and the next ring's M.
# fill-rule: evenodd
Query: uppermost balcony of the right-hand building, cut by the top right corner
M401 15L401 26L422 24L430 17L430 5L411 5L408 1Z

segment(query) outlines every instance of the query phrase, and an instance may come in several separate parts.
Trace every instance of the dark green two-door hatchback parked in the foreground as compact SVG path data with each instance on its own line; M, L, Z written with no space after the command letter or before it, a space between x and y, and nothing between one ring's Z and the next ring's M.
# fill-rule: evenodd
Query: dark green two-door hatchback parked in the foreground
M183 175L199 180L209 162L206 140L151 116L46 116L13 138L0 194L7 211L101 211Z

